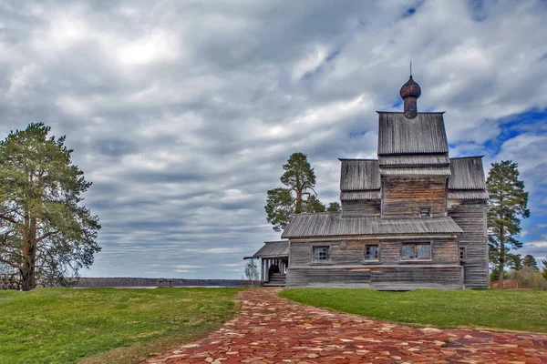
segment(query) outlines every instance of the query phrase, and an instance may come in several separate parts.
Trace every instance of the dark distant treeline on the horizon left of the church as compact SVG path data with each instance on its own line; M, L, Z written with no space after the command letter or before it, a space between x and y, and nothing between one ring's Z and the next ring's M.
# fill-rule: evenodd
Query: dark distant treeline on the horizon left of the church
M242 287L241 279L179 279L179 278L78 278L74 287Z

